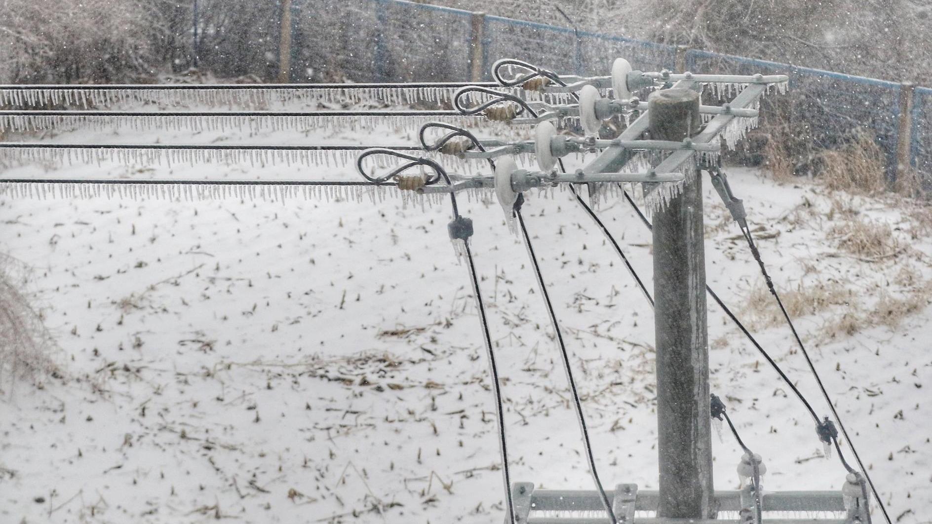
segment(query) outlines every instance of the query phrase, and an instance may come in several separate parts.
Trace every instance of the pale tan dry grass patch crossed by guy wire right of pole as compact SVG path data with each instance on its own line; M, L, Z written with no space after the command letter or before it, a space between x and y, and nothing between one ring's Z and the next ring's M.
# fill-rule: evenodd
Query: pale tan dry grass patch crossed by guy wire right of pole
M777 290L790 318L819 313L833 306L851 306L854 296L842 283L816 282L796 289ZM786 322L770 290L761 283L751 288L744 302L744 313L756 328L774 327Z

